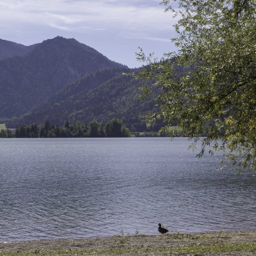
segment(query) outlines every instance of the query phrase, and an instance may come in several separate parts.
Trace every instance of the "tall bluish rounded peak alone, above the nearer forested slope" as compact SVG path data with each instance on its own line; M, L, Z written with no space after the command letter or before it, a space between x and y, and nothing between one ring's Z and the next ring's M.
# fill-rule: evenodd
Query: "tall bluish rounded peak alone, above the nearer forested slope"
M103 68L124 68L95 49L57 36L0 61L0 117L24 115L66 85Z

